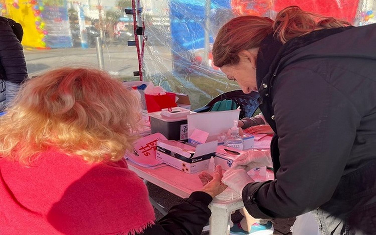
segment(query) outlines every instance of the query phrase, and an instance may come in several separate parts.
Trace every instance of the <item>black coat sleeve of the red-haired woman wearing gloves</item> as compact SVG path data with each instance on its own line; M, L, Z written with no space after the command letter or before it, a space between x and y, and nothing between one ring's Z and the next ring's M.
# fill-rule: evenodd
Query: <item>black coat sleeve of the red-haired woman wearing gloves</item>
M361 120L346 94L332 85L336 78L295 67L276 79L272 93L281 167L274 181L248 184L242 195L247 211L261 219L294 217L329 201Z

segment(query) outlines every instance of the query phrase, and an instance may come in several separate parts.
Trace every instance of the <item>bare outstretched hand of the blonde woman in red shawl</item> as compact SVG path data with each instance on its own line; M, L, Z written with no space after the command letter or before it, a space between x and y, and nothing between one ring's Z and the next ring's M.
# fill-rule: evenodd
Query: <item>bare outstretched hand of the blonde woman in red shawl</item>
M201 191L208 193L212 198L215 198L215 196L222 193L227 188L227 186L221 182L222 177L223 174L221 166L215 167L213 176L208 172L200 173L199 178L204 186Z

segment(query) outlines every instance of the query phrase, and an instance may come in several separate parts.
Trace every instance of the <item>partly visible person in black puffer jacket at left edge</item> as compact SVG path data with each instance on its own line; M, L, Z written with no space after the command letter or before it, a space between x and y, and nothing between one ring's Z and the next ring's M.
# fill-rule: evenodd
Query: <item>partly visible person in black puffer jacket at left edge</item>
M0 111L12 102L21 83L27 79L22 37L20 24L0 17Z

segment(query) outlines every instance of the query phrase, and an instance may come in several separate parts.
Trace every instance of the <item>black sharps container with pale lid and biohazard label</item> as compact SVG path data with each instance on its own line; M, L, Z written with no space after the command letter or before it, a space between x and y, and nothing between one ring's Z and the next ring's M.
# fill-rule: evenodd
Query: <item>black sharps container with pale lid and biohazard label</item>
M149 113L152 134L159 132L168 140L188 139L188 114L190 110L180 107Z

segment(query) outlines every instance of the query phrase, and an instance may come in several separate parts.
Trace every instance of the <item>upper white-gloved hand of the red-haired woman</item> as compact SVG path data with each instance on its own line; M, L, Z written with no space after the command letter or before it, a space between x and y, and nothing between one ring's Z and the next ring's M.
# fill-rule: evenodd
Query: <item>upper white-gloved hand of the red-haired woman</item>
M270 151L250 150L237 157L231 168L245 169L248 172L250 169L271 165L273 165L273 162L271 161Z

